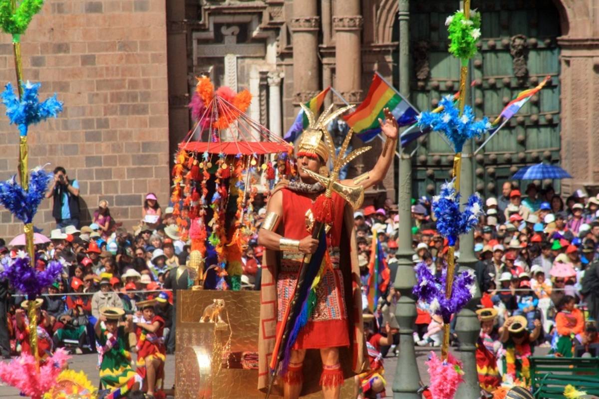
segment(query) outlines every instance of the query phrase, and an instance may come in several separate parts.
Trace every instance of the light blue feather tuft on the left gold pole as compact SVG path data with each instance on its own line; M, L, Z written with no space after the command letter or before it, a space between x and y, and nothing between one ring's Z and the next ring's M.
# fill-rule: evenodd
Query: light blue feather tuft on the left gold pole
M19 127L21 136L26 136L29 125L39 123L47 118L56 118L62 111L62 102L56 99L56 93L40 103L38 91L41 83L22 83L23 96L19 99L13 91L13 85L8 83L2 92L2 103L6 106L6 114L11 124Z

